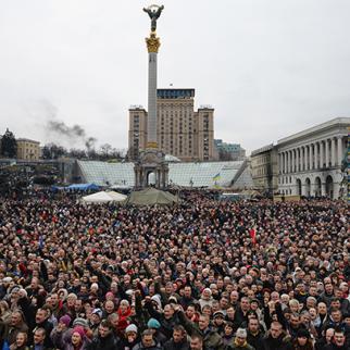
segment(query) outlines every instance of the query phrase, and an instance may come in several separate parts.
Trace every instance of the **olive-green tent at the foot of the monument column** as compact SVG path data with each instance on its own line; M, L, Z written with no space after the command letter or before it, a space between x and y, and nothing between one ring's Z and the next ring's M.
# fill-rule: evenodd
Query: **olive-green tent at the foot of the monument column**
M147 188L141 191L134 191L127 199L127 204L135 205L153 205L153 204L174 204L178 198L170 192L155 188Z

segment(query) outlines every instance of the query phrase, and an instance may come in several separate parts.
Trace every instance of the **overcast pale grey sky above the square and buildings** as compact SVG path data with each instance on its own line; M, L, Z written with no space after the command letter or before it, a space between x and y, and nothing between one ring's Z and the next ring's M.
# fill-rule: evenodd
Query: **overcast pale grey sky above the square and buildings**
M215 138L249 151L350 115L350 1L163 0L159 87L196 88ZM75 124L127 147L128 108L147 108L150 21L141 0L0 1L0 133L79 147Z

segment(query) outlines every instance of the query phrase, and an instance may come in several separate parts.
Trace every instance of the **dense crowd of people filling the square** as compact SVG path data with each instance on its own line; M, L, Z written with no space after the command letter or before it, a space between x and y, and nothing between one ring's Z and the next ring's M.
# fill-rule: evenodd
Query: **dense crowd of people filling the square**
M350 349L347 203L183 197L2 199L0 349Z

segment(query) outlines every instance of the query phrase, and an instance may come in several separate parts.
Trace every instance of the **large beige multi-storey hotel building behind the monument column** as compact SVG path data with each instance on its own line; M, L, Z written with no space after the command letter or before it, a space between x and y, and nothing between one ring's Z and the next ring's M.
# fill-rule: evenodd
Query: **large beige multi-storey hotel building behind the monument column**
M210 107L195 111L195 89L157 90L158 148L182 161L214 159L214 110ZM129 157L136 159L147 147L147 111L129 109Z

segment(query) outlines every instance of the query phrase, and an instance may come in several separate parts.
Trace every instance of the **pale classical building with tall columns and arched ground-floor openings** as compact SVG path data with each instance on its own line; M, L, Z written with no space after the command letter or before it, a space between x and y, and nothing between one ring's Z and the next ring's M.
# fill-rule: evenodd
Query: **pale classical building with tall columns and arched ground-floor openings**
M341 197L349 125L350 117L337 117L278 140L279 193Z

